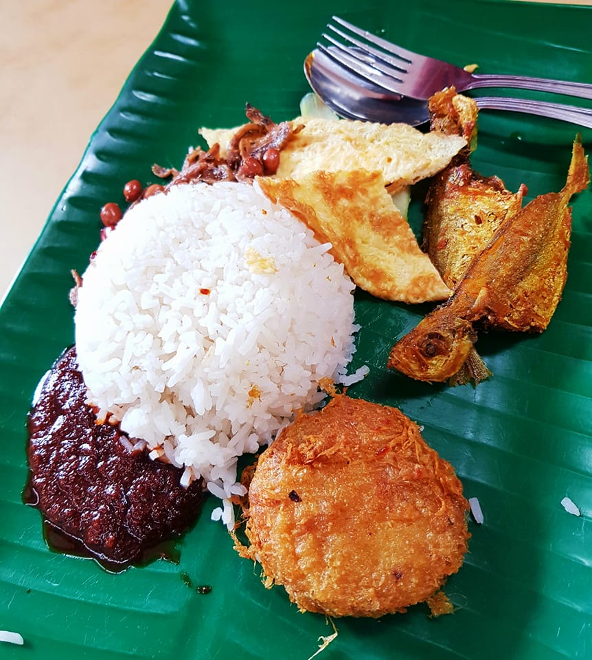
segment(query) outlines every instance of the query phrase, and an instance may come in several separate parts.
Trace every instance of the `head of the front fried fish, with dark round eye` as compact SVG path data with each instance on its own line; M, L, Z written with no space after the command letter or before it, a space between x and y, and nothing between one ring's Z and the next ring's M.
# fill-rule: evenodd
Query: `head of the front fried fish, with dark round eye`
M389 368L426 382L444 382L459 371L477 336L470 322L439 309L392 347Z

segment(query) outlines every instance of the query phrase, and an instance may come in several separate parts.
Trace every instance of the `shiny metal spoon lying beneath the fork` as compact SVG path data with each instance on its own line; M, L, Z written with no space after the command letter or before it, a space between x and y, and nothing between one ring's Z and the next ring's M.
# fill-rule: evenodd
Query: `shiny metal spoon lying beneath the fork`
M313 91L341 117L383 124L403 122L411 126L429 121L428 101L385 91L353 74L321 50L308 55L304 62L304 74ZM480 96L475 101L479 109L541 115L592 129L592 109L588 108L501 96Z

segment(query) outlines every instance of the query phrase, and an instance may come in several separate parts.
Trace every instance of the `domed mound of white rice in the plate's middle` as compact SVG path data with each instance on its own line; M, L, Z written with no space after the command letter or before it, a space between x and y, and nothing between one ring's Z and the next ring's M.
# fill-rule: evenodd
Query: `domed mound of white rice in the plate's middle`
M83 276L78 364L89 403L150 456L203 476L231 525L238 456L351 382L354 285L255 185L173 186L130 208Z

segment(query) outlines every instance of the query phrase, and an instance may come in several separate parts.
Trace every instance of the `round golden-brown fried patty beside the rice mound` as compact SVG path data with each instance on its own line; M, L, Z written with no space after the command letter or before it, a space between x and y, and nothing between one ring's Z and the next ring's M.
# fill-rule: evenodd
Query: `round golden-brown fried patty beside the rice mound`
M396 408L339 395L260 456L242 556L300 610L380 617L429 599L461 566L468 503L453 467Z

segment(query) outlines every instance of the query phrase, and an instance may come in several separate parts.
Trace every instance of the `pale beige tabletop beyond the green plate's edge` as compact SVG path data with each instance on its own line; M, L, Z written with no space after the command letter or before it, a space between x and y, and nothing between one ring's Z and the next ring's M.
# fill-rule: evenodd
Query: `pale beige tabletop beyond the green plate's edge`
M0 8L1 298L170 2L0 0Z

